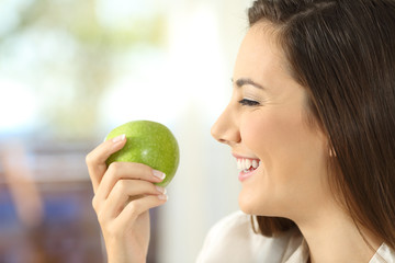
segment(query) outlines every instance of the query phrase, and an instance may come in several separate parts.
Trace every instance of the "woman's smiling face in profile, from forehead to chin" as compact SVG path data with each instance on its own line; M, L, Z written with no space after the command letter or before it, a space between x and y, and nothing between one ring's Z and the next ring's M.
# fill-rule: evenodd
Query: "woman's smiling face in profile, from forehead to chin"
M269 24L247 33L235 65L233 96L212 128L240 169L240 208L293 218L326 202L327 140L307 121L307 94L286 69Z

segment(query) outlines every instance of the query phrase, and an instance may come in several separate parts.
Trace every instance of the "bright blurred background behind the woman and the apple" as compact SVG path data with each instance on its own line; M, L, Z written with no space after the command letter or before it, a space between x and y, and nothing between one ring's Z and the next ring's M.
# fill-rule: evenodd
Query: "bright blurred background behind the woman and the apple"
M123 123L179 140L148 262L194 262L238 209L210 128L232 93L251 0L0 0L0 262L105 262L86 155Z

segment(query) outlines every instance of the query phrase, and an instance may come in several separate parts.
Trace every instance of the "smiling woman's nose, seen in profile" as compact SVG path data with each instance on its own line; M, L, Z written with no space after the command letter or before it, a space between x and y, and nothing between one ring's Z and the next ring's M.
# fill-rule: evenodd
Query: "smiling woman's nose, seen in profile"
M237 113L229 104L211 129L212 136L219 142L233 146L241 140L237 125Z

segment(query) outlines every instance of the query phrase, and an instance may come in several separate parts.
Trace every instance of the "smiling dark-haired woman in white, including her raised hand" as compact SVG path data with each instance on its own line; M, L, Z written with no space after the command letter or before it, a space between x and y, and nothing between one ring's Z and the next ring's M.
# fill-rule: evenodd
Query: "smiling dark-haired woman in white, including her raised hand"
M198 261L395 262L395 2L258 0L248 14L212 129L241 169L244 213L211 230ZM109 262L144 262L162 174L106 169L124 144L87 157L93 207Z

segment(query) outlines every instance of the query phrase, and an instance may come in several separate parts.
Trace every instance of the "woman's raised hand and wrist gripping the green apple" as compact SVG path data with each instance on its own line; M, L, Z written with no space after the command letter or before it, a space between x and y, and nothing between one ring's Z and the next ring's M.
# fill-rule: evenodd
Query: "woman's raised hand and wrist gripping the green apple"
M109 263L145 262L149 243L148 209L167 201L165 190L154 183L165 174L132 162L105 160L125 146L125 136L99 145L87 156L93 184L93 208L101 226Z

